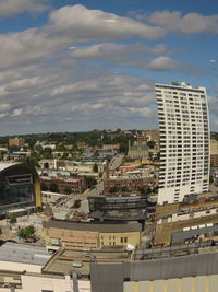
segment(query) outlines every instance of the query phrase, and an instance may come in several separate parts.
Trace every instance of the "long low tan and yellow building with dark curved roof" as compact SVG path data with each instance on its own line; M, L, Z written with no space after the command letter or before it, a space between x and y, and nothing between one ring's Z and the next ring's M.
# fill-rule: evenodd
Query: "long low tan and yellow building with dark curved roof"
M52 219L44 222L48 245L98 248L107 245L140 246L140 223L84 223Z

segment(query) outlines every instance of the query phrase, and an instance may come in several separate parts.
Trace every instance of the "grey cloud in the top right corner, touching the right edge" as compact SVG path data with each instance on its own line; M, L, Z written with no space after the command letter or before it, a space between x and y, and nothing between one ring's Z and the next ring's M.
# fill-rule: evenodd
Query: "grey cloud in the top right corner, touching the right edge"
M145 15L144 20L162 27L167 32L183 34L218 33L218 14L205 16L199 13L187 13L182 16L181 12L166 10Z

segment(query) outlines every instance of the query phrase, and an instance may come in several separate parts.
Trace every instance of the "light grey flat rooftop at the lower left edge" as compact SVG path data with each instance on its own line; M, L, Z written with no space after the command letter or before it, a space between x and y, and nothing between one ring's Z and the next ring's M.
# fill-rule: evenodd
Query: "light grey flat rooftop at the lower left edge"
M9 243L0 246L0 260L45 266L51 255L46 247Z

